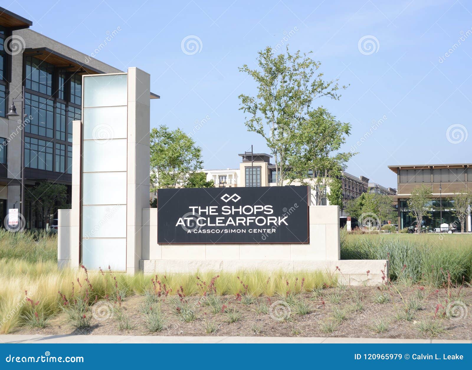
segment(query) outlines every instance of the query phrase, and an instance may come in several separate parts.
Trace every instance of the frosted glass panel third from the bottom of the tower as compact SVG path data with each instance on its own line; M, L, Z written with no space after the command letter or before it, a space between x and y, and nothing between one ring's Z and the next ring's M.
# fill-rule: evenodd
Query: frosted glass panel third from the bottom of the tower
M89 204L126 204L126 172L84 173L82 199Z

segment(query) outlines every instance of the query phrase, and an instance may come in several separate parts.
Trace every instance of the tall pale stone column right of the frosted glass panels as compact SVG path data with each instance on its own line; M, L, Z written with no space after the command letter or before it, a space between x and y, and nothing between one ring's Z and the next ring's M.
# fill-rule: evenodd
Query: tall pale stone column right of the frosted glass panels
M149 208L149 130L151 76L128 68L126 272L134 274L142 259L143 208Z

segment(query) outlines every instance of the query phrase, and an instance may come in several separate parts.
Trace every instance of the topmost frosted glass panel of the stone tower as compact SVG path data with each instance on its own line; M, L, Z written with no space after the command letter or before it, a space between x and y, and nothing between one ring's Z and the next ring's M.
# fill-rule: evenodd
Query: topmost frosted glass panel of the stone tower
M84 108L126 105L127 77L126 74L84 77Z

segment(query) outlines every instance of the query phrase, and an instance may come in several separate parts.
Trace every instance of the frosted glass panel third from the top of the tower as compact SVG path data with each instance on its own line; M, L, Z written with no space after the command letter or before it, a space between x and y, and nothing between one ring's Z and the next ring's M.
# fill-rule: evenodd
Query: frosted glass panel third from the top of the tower
M126 171L126 139L84 140L84 172Z

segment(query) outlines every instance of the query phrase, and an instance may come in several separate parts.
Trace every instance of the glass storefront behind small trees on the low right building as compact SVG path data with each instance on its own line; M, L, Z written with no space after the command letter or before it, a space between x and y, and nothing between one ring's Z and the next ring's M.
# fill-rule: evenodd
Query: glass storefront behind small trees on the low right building
M439 227L442 223L454 224L457 225L457 230L461 229L461 224L457 217L454 216L454 202L448 199L442 199L439 201L439 198L432 199L427 204L429 208L430 217L425 217L423 219L423 224L428 226L430 229ZM442 220L441 220L441 210L442 210ZM413 224L414 218L410 216L410 210L408 209L408 203L406 199L400 199L400 225L399 228L403 229L409 227Z

